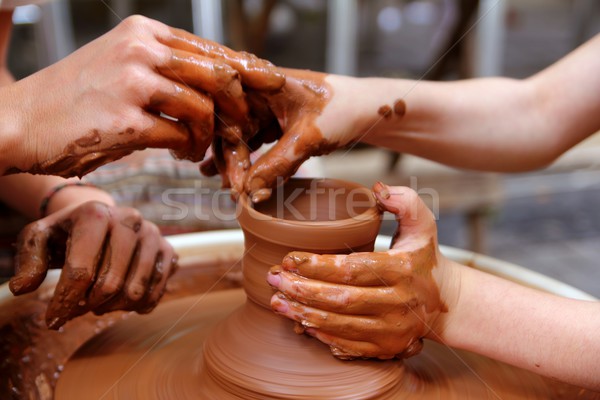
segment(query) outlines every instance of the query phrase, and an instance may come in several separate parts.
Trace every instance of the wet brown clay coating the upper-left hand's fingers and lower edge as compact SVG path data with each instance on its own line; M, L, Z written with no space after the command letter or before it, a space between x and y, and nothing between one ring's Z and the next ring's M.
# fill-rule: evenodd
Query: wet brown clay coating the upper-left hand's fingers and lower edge
M6 173L81 177L148 147L171 149L178 158L200 161L214 134L222 134L237 144L240 138L247 140L255 133L250 128L245 131L252 123L244 90L280 89L285 75L278 68L252 54L235 52L180 29L170 28L155 39L169 47L171 57L164 64L147 65L148 71L160 75L154 78L170 81L172 85L167 86L172 90L157 89L139 99L143 104L133 113L136 116L132 114L126 121L128 125L92 125L80 127L79 132L67 132L63 142L36 154L39 158L33 165L11 164ZM164 118L161 113L171 118ZM218 122L224 127L216 132L213 128ZM243 135L239 133L242 131ZM237 151L240 154L239 148ZM236 160L239 159L238 156Z

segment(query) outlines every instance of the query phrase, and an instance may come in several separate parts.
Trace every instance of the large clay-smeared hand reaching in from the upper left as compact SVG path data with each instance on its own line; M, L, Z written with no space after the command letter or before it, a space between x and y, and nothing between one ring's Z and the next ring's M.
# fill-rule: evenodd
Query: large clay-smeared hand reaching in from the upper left
M270 91L284 81L253 55L129 17L64 60L2 89L13 115L5 126L14 132L3 171L81 176L147 147L199 161L212 142L215 118L247 123L242 82Z

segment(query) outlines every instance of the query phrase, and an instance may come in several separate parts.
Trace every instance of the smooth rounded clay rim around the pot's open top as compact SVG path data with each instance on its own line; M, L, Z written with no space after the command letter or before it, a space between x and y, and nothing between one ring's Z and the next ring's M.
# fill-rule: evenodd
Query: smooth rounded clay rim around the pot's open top
M313 185L313 186L311 186ZM282 199L282 190L307 190L311 187L324 188L326 193L320 196L316 205L321 211L331 208L331 197L334 190L344 190L344 196L334 196L336 209L339 206L346 207L348 193L356 197L356 203L350 212L346 209L335 217L340 219L322 218L322 212L316 212L316 218L298 220L293 215L283 215L282 218L273 216L276 211L277 203L284 201ZM304 196L306 198L306 196ZM285 198L285 196L284 196ZM343 202L343 203L340 203ZM279 203L281 204L281 203ZM306 215L307 210L302 210L302 204L298 207L301 214ZM288 213L289 214L289 213ZM373 238L379 232L382 213L377 207L375 197L371 190L357 183L348 182L339 179L310 179L293 178L284 184L284 188L279 193L273 191L271 199L264 203L253 204L249 196L243 194L239 200L238 220L242 229L245 231L268 240L272 243L289 245L293 243L298 249L319 248L321 250L339 249L339 243L344 243L348 248L360 247ZM291 217L291 218L288 218ZM333 235L333 236L332 236ZM327 238L335 237L335 240ZM331 243L330 243L331 242ZM336 244L337 243L337 244ZM347 250L348 249L344 249Z

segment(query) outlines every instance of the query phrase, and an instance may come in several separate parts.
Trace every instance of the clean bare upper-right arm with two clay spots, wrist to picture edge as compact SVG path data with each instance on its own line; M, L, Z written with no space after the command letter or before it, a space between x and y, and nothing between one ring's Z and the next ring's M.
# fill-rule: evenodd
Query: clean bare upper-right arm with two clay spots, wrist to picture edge
M597 35L525 80L366 79L342 97L366 98L355 110L360 114L356 137L367 143L457 167L524 171L546 166L600 130L599 52ZM344 87L345 78L329 79ZM403 117L377 115L379 106L396 99L406 103ZM323 123L326 118L324 113Z

